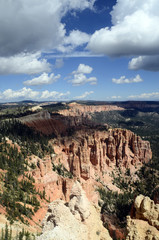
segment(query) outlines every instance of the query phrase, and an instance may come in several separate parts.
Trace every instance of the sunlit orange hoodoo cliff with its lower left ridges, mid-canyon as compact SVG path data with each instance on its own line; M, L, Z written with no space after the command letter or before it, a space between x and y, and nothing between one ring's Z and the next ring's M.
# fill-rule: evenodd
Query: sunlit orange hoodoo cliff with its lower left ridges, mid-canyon
M122 129L79 130L71 137L51 140L50 144L55 154L44 159L32 156L30 160L37 166L30 170L36 188L45 191L50 201L69 201L73 183L78 179L88 199L97 204L96 188L107 186L119 190L112 183L112 171L119 167L135 171L135 167L142 166L152 156L149 142ZM38 214L33 218L36 219Z

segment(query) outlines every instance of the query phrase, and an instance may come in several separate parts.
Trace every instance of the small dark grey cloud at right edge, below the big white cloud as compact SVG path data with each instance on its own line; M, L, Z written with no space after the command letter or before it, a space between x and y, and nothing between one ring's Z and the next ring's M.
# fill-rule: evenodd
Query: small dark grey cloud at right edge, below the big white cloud
M159 55L157 56L139 56L129 62L131 70L159 71Z

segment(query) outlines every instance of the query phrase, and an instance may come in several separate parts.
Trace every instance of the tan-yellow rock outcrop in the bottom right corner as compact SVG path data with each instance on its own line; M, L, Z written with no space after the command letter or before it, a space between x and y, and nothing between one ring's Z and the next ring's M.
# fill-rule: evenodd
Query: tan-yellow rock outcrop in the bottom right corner
M127 217L126 240L159 240L159 204L139 195L134 202L135 214Z

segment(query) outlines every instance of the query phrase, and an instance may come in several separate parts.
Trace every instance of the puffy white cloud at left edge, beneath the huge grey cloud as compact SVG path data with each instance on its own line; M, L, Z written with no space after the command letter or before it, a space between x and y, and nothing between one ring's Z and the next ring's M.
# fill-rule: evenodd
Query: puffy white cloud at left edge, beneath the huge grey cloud
M0 74L38 74L50 70L51 65L46 59L41 59L39 52L0 57Z

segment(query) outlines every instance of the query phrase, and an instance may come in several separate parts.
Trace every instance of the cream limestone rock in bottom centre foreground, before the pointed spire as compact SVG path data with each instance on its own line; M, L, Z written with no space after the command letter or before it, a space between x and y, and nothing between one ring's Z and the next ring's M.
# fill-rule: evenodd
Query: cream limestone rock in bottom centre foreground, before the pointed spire
M62 200L56 200L49 205L43 226L43 234L38 238L39 240L88 239L86 226L72 215Z

